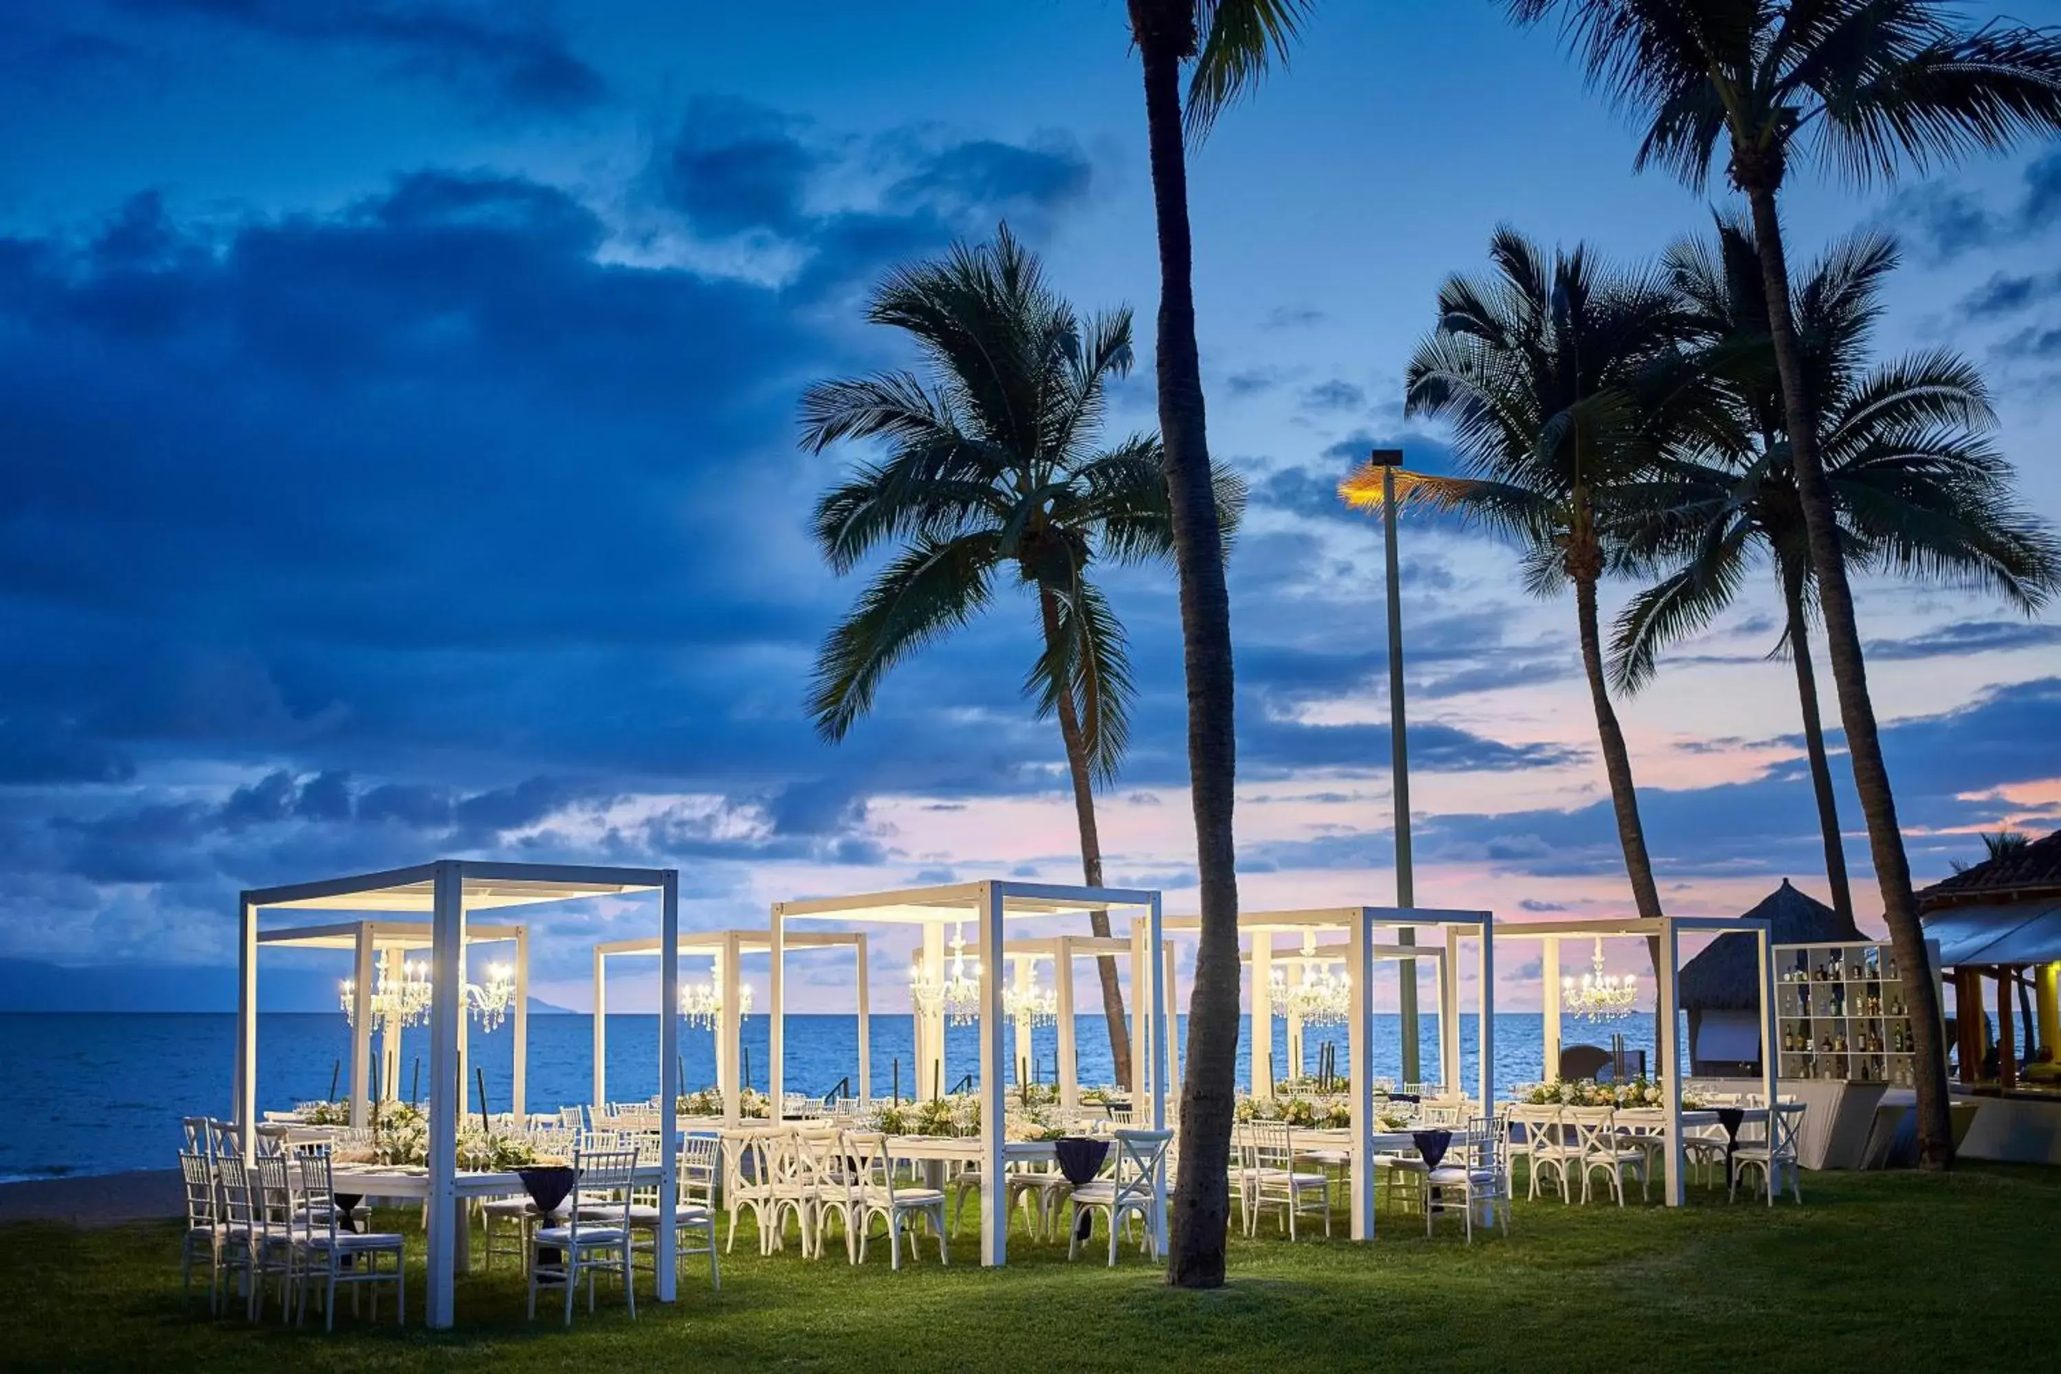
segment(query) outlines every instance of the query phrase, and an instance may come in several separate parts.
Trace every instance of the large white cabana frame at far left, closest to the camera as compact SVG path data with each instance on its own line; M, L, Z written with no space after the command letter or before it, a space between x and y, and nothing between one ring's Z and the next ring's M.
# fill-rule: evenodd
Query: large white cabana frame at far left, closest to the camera
M451 1325L455 1308L458 1246L464 1217L458 1211L458 1094L460 1024L464 1018L466 913L571 902L594 896L660 896L660 995L678 1005L680 960L680 875L676 869L589 867L573 863L493 863L437 859L383 873L330 878L322 882L256 888L241 892L237 966L237 1069L235 1123L245 1154L256 1149L258 1119L258 913L260 911L354 911L429 913L431 917L431 1014L429 1014L429 1197L423 1205L427 1232L429 1300L433 1329ZM361 981L359 989L367 985ZM523 989L528 995L528 989ZM363 1009L363 1003L361 1003ZM363 1020L363 1018L361 1018ZM660 1022L660 1209L670 1215L678 1199L678 1020ZM449 1088L449 1090L439 1090ZM674 1300L674 1228L657 1228L657 1300Z

